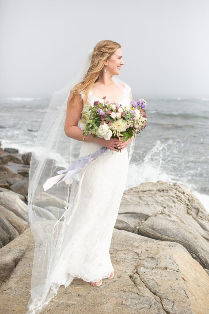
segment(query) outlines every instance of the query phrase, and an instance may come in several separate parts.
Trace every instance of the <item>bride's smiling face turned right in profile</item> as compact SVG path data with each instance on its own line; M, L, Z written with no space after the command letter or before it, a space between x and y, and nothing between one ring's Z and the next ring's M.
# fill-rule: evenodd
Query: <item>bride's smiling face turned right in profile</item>
M122 49L118 48L114 52L114 54L109 59L107 59L105 65L107 65L107 71L109 74L111 75L120 74L120 68L122 65L124 65L122 58L123 58Z

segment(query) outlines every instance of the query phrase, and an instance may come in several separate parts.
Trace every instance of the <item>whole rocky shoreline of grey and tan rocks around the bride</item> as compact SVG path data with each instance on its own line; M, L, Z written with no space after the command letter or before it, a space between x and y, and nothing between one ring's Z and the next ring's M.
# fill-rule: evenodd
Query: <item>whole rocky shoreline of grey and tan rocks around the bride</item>
M0 312L25 313L34 237L27 211L31 152L0 147ZM58 201L61 201L58 199ZM209 213L180 184L124 192L110 247L115 276L75 278L43 313L209 313Z

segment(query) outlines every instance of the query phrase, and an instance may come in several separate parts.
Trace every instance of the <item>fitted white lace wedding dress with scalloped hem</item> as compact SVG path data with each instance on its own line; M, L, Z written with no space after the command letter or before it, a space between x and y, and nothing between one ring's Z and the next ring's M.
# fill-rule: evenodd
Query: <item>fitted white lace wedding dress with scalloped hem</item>
M129 104L129 95L130 87L126 84L118 103ZM84 98L84 94L81 96ZM90 91L88 101L92 106L95 100L101 99ZM79 157L101 147L96 142L83 142ZM65 287L74 277L97 282L114 270L109 248L128 174L127 148L121 153L108 150L83 170L80 177L84 171L76 214L69 224L65 249L52 276L54 283Z

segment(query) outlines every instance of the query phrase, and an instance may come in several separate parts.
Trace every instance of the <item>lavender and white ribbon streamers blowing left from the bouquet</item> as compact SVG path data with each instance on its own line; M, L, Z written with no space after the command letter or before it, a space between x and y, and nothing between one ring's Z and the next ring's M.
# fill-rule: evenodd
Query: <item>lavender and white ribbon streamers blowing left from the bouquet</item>
M96 152L76 159L69 168L57 171L57 173L59 173L57 176L47 179L43 184L44 191L48 190L50 187L53 187L55 183L58 185L62 181L65 181L66 184L71 184L73 182L71 179L72 176L88 167L91 162L99 158L102 154L106 154L107 150L107 147L102 146Z

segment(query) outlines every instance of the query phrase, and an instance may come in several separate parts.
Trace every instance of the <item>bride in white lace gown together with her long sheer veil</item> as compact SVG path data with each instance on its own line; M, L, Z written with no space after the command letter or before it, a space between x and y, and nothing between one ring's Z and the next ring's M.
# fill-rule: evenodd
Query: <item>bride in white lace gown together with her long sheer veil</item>
M54 116L51 113L53 118L50 120L52 108L64 97L61 93L53 95L36 143L36 147L42 145L44 151L39 157L33 153L31 158L28 210L36 245L27 313L40 313L57 294L60 285L67 287L74 278L98 287L103 278L114 276L109 248L134 140L129 138L123 142L123 137L105 140L94 138L93 134L84 140L79 120L87 103L93 106L94 101L103 102L106 97L105 101L125 106L132 100L132 94L128 84L114 77L124 65L122 49L117 42L98 42L89 51L87 60L82 69L85 75L78 76L73 86L71 83L70 95L66 94L69 85L61 91L67 95L67 101ZM65 145L60 135L63 132L70 141L66 144L65 139ZM97 152L101 147L107 147L107 151L73 178L71 186L67 186L67 181L66 185L62 182L59 190L53 187L50 194L44 194L42 186L46 176L57 171L55 155L59 151L72 163L77 142L82 142L79 157ZM63 150L63 146L68 147ZM67 195L66 202L63 194L60 197L63 191Z

